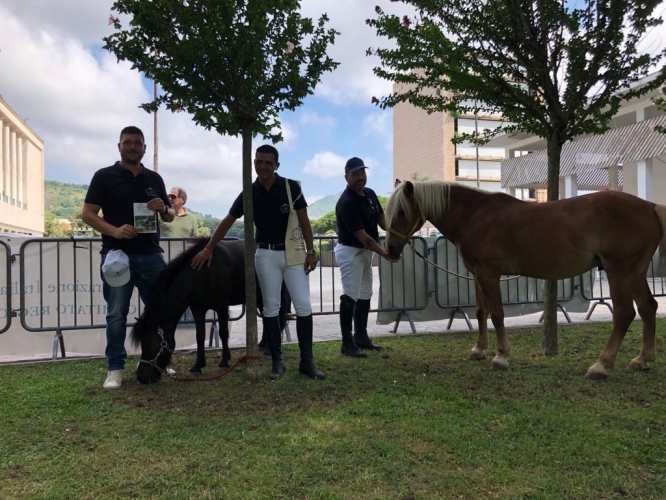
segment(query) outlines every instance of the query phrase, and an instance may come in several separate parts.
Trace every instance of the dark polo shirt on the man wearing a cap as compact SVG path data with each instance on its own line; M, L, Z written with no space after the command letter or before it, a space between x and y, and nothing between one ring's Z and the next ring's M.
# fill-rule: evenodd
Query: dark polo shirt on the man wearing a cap
M354 236L355 231L365 232L375 241L379 241L379 216L384 213L377 195L370 188L363 188L365 196L356 191L345 189L335 204L335 217L338 224L338 241L343 245L364 248L365 245Z

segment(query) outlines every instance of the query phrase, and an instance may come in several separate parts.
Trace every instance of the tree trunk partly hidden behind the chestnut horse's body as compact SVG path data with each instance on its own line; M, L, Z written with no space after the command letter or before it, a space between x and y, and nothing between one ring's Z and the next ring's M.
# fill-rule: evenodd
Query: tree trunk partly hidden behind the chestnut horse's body
M560 198L560 156L562 140L555 132L548 139L548 201ZM544 283L543 304L543 355L557 354L557 281Z

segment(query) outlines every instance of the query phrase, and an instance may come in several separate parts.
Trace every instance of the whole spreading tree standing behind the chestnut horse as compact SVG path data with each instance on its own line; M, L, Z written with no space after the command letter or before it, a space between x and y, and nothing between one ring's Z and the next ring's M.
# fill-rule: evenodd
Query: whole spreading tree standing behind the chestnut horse
M394 1L394 0L391 0ZM527 131L547 140L548 200L559 198L562 146L603 133L623 100L666 78L635 84L666 56L639 53L645 34L662 23L661 0L403 0L404 16L376 7L367 23L393 48L370 49L375 74L400 84L373 99L382 108L409 102L427 112L501 113L498 133ZM545 290L543 350L557 353L557 283Z

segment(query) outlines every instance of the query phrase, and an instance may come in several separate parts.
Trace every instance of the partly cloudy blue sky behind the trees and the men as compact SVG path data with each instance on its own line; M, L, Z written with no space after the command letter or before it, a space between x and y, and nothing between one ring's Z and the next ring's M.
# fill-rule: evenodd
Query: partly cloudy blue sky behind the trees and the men
M138 109L152 84L101 50L112 0L3 0L0 3L0 95L45 142L45 178L87 184L118 159L118 132L144 130L152 168L152 116ZM375 77L369 47L385 46L365 20L375 5L401 13L389 0L303 0L302 14L327 12L341 32L330 55L340 67L324 76L315 94L282 116L280 174L299 179L312 203L344 189L344 163L359 156L368 185L391 191L392 115L371 104L391 84ZM167 189L188 191L188 205L224 216L241 190L241 142L194 125L187 113L159 113L159 172ZM255 146L263 141L257 139Z

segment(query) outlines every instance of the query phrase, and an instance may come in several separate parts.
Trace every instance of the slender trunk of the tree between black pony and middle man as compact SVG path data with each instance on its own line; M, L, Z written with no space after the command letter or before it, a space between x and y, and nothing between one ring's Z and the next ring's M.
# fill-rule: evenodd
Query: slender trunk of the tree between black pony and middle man
M252 130L243 130L243 218L245 219L245 353L251 358L257 348L257 287L254 269L254 206L252 203ZM259 378L259 361L248 359L246 373Z

